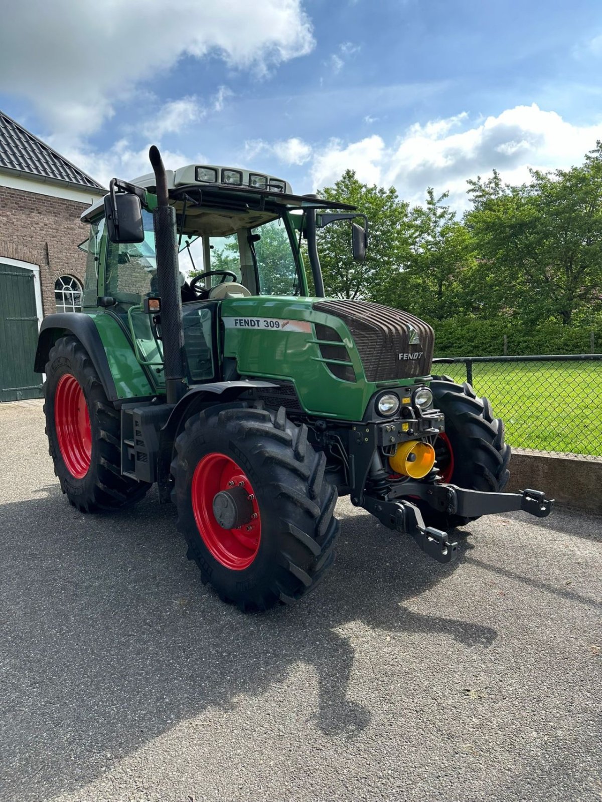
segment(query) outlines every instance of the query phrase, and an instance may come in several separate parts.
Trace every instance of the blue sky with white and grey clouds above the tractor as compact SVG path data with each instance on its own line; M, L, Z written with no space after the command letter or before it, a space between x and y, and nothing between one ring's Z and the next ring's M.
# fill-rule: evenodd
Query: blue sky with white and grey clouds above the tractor
M600 0L21 0L0 26L0 108L104 186L157 144L461 211L493 168L579 164L601 71Z

